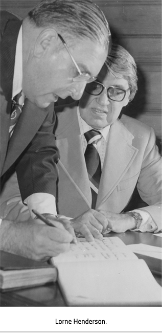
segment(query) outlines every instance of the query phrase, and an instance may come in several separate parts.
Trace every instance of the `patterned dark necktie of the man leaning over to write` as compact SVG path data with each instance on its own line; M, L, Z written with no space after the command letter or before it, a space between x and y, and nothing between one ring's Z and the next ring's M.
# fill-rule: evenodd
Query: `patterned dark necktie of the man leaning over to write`
M11 118L10 118L10 131L14 128L16 122L22 111L22 106L24 105L25 96L24 93L19 92L12 100L11 107Z

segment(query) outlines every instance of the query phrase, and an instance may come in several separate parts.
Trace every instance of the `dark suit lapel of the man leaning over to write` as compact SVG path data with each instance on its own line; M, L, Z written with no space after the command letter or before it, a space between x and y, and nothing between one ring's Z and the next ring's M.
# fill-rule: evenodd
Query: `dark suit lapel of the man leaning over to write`
M47 116L49 108L40 109L35 104L26 99L20 118L9 141L3 173L8 170L8 168L19 157L21 152L31 142L41 124L43 123L45 117Z

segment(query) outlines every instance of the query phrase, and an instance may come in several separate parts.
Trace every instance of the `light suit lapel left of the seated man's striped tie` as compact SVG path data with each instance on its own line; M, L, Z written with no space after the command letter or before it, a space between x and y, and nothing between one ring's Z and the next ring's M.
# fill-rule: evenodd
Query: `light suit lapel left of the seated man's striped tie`
M88 183L88 174L85 165L80 128L77 117L77 107L63 111L64 119L68 120L66 129L57 136L56 144L60 151L61 167L67 177L76 187L85 202L91 207L91 191ZM67 122L67 121L66 121ZM63 118L61 124L65 125ZM56 135L60 131L56 130Z

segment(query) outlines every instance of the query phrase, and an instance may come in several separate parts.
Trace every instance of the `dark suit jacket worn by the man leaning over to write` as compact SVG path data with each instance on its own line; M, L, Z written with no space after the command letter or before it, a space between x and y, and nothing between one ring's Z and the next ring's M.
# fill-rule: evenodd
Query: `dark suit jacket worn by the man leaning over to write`
M38 108L28 99L9 139L15 50L21 21L0 12L0 176L15 165L24 200L36 192L56 194L58 159L53 126L54 104ZM1 178L1 185L5 177Z

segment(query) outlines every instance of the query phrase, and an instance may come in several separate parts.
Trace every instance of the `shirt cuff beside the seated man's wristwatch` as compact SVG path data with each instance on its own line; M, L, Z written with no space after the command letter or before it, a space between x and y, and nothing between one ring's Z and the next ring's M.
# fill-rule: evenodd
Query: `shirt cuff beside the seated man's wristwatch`
M140 228L138 229L131 229L133 231L140 231L140 232L154 232L156 229L157 229L157 226L155 224L155 222L153 221L151 215L146 212L146 211L143 211L141 209L135 209L131 212L135 212L135 213L139 213L142 217L142 222L141 222L141 225L140 225Z

